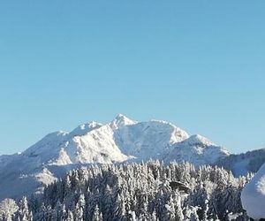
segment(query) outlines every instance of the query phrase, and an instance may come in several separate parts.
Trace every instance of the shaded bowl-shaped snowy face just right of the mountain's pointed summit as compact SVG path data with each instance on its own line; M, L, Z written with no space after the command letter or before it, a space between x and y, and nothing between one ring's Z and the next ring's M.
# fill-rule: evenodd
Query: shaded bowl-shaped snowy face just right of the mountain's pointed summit
M187 137L188 134L177 126L158 120L122 126L115 131L115 141L121 151L140 160L162 159L172 144Z

